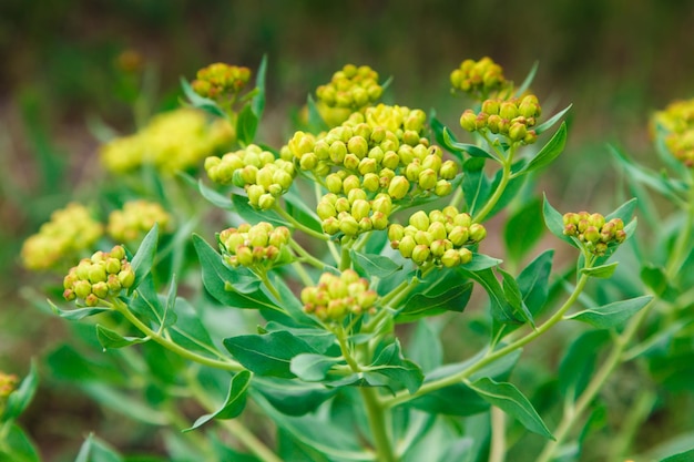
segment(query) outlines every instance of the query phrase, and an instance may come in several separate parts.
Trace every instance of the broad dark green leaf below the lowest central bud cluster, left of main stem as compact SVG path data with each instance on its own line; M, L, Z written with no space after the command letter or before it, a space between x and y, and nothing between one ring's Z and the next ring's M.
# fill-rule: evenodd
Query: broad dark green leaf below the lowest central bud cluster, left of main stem
M318 353L304 340L286 330L224 339L224 346L245 368L258 376L292 379L292 358Z

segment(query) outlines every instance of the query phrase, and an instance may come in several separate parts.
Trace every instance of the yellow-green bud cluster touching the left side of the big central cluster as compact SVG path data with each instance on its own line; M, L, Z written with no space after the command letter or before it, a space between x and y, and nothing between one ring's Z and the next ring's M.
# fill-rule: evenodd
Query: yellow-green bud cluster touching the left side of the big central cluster
M289 189L296 175L292 161L275 158L273 153L255 144L222 157L207 157L205 171L217 184L243 187L248 203L263 211L275 205L276 198Z

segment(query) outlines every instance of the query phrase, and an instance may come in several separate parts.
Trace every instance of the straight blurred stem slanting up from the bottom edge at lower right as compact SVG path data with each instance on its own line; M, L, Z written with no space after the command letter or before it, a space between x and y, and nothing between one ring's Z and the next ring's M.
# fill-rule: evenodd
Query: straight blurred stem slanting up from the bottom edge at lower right
M542 453L538 458L537 462L549 462L552 460L554 451L562 444L576 421L582 418L583 412L585 412L585 409L588 409L595 396L600 392L614 369L622 363L624 350L626 349L627 343L636 335L639 327L649 316L649 311L652 306L653 300L630 320L624 331L614 340L614 346L612 347L610 355L602 363L598 372L593 374L593 378L589 382L588 387L585 387L585 390L583 390L583 393L581 393L579 399L575 401L575 404L572 407L572 412L564 413L559 427L554 431L554 441L549 441L544 445L544 449L542 450Z

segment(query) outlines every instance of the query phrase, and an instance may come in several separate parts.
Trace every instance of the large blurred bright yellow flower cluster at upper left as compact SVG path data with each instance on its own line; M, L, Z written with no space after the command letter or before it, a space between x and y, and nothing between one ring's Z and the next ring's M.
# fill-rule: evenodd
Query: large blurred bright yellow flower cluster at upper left
M208 122L202 111L181 109L153 117L133 135L104 144L101 160L114 173L152 165L172 174L197 167L203 158L223 152L235 140L235 129L227 121Z

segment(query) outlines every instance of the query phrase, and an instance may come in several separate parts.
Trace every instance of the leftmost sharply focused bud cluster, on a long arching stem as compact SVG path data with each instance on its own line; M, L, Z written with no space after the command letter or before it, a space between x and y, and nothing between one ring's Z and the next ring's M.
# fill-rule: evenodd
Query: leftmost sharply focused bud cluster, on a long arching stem
M135 271L127 261L123 246L111 251L96 251L83 258L63 279L63 297L95 307L101 300L118 296L135 283Z

